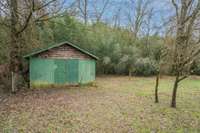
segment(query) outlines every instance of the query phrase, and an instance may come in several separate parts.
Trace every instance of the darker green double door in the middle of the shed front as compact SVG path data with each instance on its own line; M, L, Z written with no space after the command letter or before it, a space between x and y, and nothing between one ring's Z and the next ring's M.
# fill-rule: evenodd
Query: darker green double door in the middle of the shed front
M56 84L78 83L78 60L55 60L54 81Z

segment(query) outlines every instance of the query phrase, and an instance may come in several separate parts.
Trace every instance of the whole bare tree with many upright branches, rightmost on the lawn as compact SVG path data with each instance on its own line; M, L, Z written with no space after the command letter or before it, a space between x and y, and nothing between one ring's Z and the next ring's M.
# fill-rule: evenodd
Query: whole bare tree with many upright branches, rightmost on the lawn
M200 53L200 41L195 39L195 29L200 15L199 0L171 0L175 9L176 36L173 55L173 71L176 76L173 86L171 107L176 107L179 83L186 79L191 64Z

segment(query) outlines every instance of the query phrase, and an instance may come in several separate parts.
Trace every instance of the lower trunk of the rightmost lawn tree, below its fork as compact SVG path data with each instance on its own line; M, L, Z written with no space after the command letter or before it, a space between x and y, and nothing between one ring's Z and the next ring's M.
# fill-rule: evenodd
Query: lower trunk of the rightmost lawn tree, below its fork
M177 75L176 80L174 82L173 93L172 93L172 101L171 101L172 108L176 108L176 94L178 89L178 83L179 83L179 76Z

